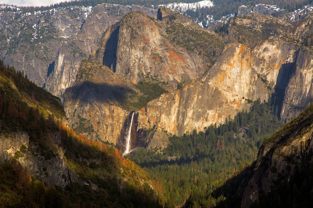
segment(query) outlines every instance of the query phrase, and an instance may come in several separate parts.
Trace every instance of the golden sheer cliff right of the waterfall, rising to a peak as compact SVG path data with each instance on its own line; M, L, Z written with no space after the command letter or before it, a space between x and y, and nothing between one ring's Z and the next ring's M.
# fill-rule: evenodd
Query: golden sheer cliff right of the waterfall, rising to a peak
M267 100L268 90L251 67L250 53L242 44L229 45L202 80L149 102L139 112L139 126L175 135L203 131L247 110L247 99Z

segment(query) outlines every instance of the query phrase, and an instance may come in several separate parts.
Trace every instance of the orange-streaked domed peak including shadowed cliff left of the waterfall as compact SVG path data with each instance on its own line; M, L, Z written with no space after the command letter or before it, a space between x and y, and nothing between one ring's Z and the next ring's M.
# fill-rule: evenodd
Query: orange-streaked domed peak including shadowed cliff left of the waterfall
M130 12L103 33L88 61L94 68L83 64L73 87L65 91L70 126L90 128L83 133L118 144L129 111L208 70L223 48L222 39L178 13L158 13L162 20Z

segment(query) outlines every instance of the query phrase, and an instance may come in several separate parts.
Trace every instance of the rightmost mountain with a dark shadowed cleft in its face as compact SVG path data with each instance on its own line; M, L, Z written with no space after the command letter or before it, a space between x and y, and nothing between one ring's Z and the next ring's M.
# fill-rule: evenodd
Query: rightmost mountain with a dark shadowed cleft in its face
M257 74L273 90L274 102L283 121L290 121L311 103L311 82L304 78L311 76L311 47L307 47L312 31L311 18L312 12L309 12L294 25L266 15L237 17L230 21L228 35L224 36L254 47L256 57L262 54L260 61L253 61L252 67L258 68ZM285 58L276 59L279 56ZM270 59L276 60L275 64L264 64Z

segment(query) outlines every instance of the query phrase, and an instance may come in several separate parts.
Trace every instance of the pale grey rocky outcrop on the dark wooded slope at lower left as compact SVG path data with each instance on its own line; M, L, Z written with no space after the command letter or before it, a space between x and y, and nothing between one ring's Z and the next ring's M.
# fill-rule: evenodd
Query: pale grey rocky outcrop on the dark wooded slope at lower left
M60 134L54 134L54 142L57 144ZM44 183L65 187L68 183L79 182L78 176L65 164L61 151L55 153L55 157L45 159L29 150L35 149L33 143L29 143L29 136L24 132L6 133L0 135L0 163L5 160L16 159L31 176L36 176Z

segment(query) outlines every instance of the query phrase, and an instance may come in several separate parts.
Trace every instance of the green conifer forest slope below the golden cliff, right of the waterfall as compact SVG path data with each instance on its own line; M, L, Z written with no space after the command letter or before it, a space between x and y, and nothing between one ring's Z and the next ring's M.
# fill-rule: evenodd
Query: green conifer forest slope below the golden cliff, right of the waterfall
M251 164L262 139L281 126L273 114L270 105L255 101L250 112L223 125L172 136L166 149L139 149L131 158L163 185L171 207L214 207L222 198L210 193Z

